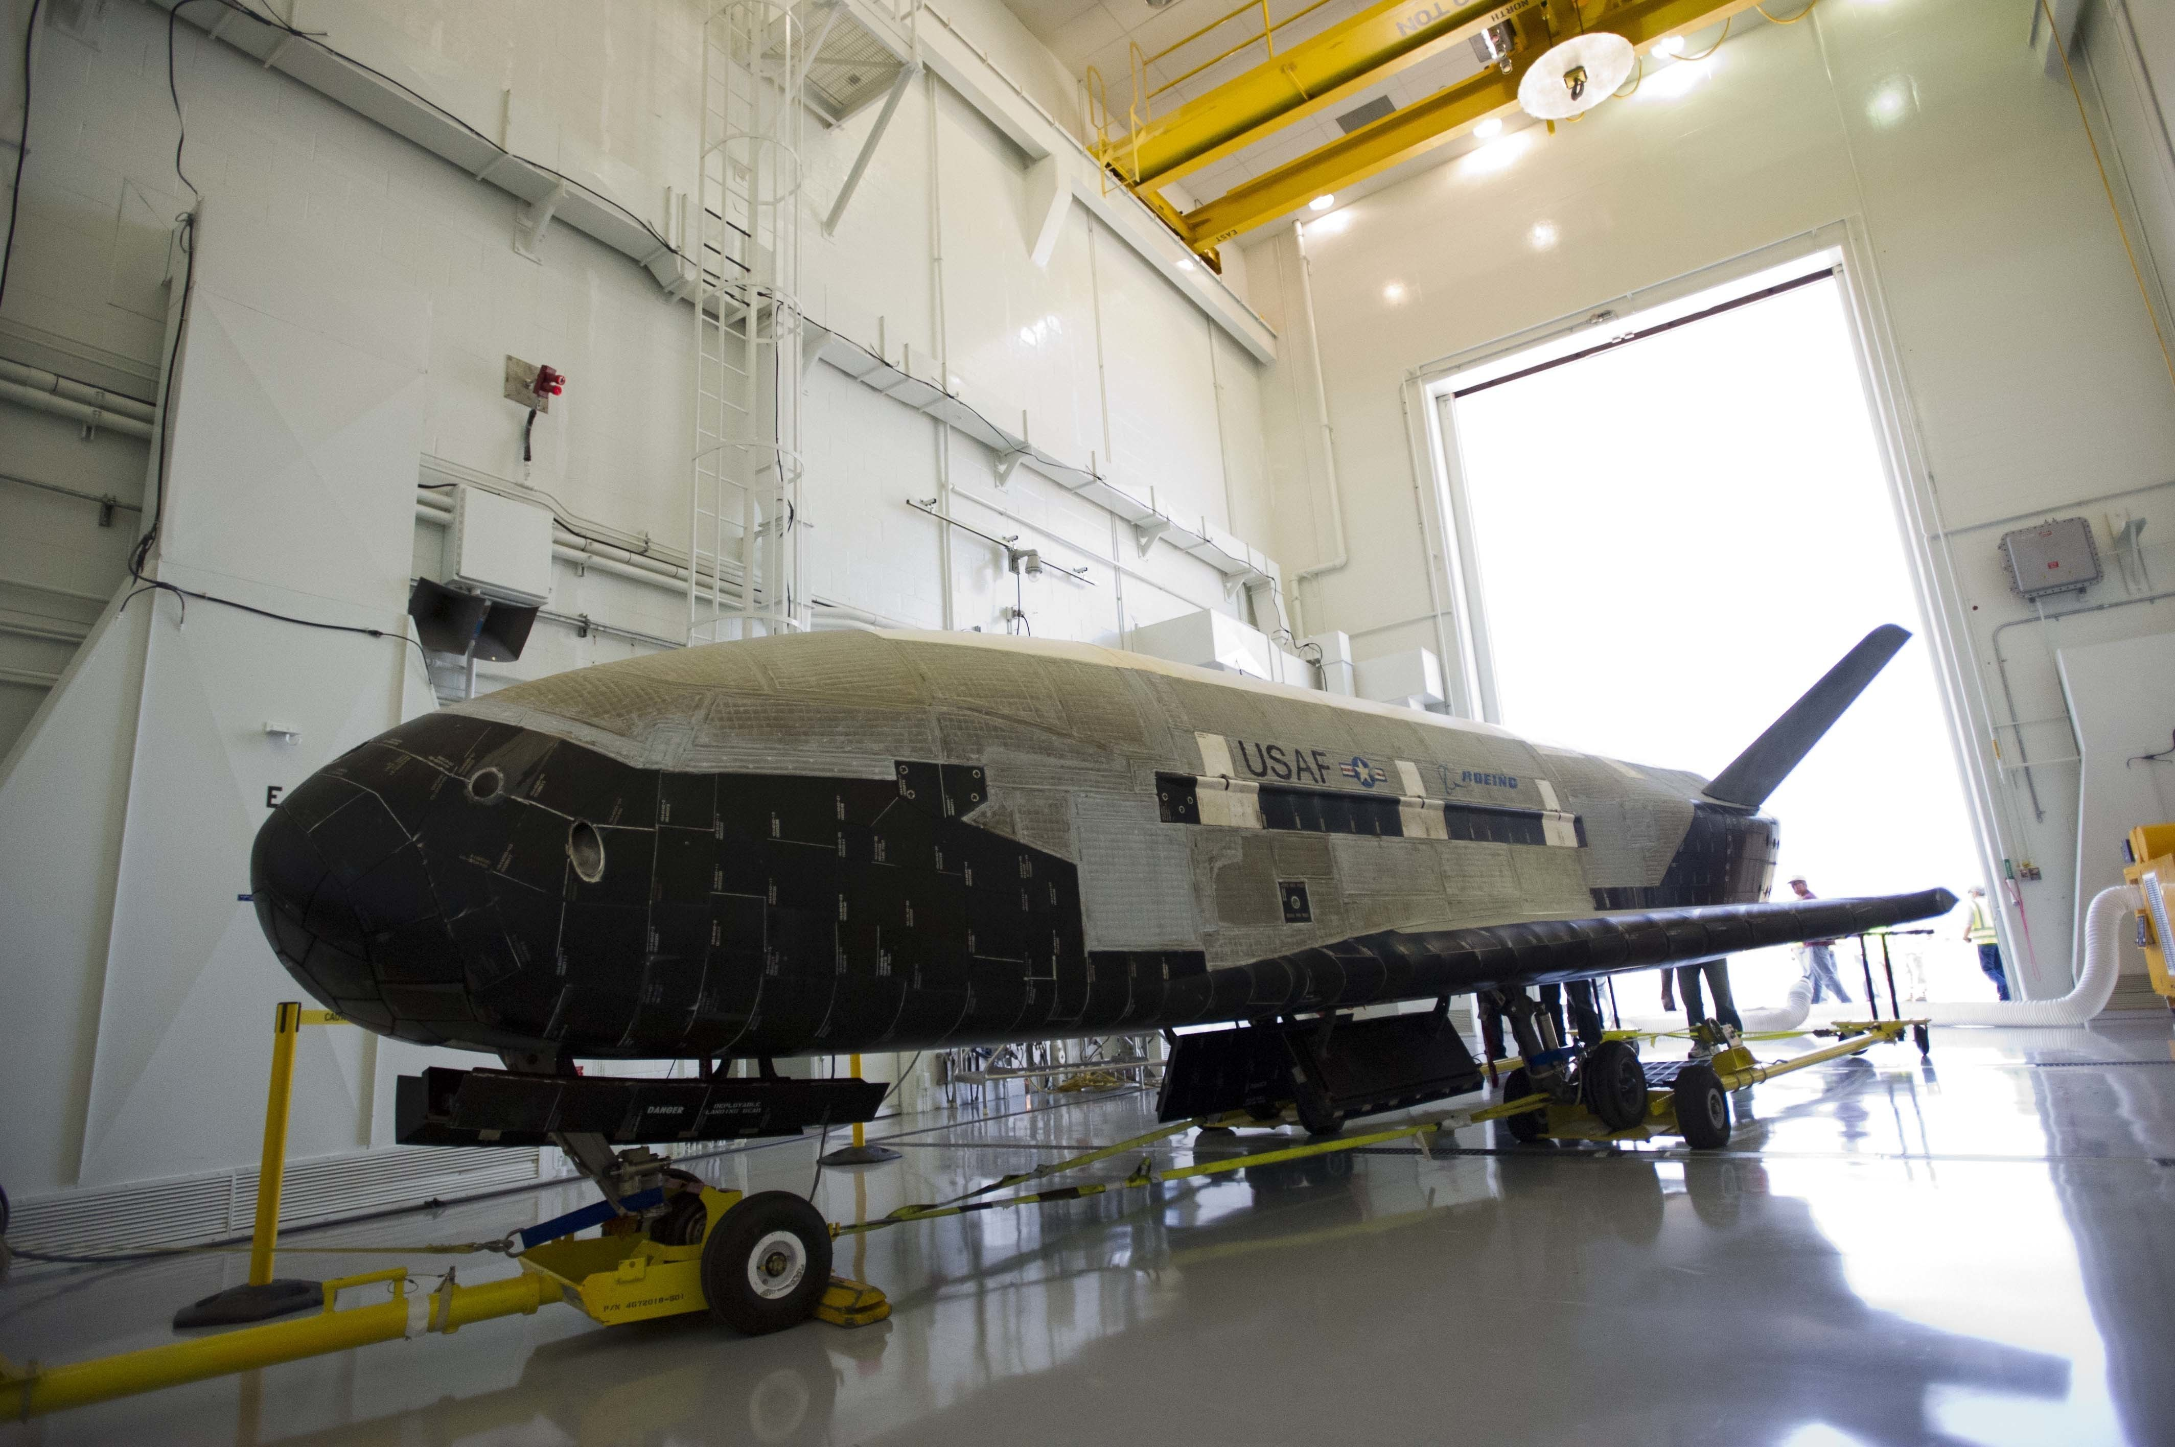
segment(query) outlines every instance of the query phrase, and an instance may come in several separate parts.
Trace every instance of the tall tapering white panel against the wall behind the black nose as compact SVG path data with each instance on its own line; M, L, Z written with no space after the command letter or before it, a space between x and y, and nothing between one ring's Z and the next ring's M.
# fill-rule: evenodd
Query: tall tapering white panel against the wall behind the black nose
M83 1184L248 1160L265 1005L294 994L241 899L265 790L398 722L418 668L402 640L424 298L355 252L313 255L213 202L198 211L194 255L159 577L389 635L309 631L209 601L189 603L183 622L181 598L135 603L154 614L139 703L150 727L130 766ZM359 285L326 302L337 268ZM268 735L268 720L300 735ZM363 1145L365 1055L352 1031L304 1055L298 1155Z

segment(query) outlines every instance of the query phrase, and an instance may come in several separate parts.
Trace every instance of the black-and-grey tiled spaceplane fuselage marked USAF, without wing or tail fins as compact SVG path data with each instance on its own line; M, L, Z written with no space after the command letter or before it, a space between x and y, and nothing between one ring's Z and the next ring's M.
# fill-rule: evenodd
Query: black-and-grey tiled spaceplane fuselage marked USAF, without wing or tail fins
M1522 984L1416 942L1766 899L1773 820L1703 783L1088 644L787 635L389 729L287 794L252 892L402 1040L911 1051Z

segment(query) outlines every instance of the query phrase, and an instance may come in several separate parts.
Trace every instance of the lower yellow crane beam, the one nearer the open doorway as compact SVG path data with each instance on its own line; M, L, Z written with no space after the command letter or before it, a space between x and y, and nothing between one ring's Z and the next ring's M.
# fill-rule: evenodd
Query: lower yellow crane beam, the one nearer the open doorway
M1720 24L1753 9L1755 0L1629 0L1605 20L1588 22L1588 30L1614 30L1644 54L1655 41L1710 24ZM1520 26L1522 30L1522 26ZM1233 187L1225 196L1179 218L1177 231L1196 252L1207 255L1231 237L1290 215L1316 196L1351 187L1412 157L1442 146L1488 115L1518 104L1518 81L1546 48L1527 44L1512 57L1507 72L1488 67L1477 76L1449 85L1427 100L1392 111L1372 126L1312 150L1296 161ZM1372 78L1370 78L1372 81ZM1235 85L1235 83L1233 83ZM1209 100L1207 96L1203 100Z

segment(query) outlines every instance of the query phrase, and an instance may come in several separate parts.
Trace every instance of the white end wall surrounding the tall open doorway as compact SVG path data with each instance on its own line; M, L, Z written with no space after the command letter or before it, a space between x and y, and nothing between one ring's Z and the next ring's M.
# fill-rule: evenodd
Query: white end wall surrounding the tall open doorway
M2044 818L1999 768L1990 740L2012 716L1994 629L2031 611L2010 592L1994 542L2047 516L2103 527L2110 509L2149 518L2147 540L2175 535L2175 389L2077 104L2027 33L2027 4L1827 0L1805 24L1738 26L1683 94L1649 74L1640 94L1577 126L1522 133L1514 144L1525 152L1501 170L1422 170L1344 207L1342 231L1309 228L1351 566L1301 596L1307 627L1355 633L1362 657L1435 646L1425 540L1440 533L1416 516L1416 479L1433 487L1414 437L1418 368L1849 222L1853 261L1870 261L1857 283L1892 326L1910 409L1905 485L1927 503L1923 516L1940 518L1927 531L1947 531L1918 537L1914 553L1936 564L1938 607L1960 640L1960 733L1981 814L1999 829L1992 855L2044 870L2023 886L2040 966L2025 984L2044 997L2071 979L2064 931L2047 923L2073 918L2079 846L2088 894L2118 881L2118 840L2077 838L2075 764L2034 770ZM2175 76L2162 96L2175 94L2166 81ZM2105 148L2092 76L2079 70L2079 83ZM1910 96L1897 124L1870 111L1884 87ZM2129 157L2140 189L2147 172L2164 176L2164 137L2155 144ZM1292 233L1257 242L1248 274L1253 302L1285 337L1288 361L1266 396L1285 524L1272 553L1294 579L1333 544ZM1403 305L1385 300L1388 281L1405 283ZM1440 564L1435 577L1449 605ZM2153 577L2168 577L2166 564ZM2095 601L2114 596L2118 585ZM2166 629L2164 607L2151 605L2053 624L2044 638L2012 627L2003 657L2016 712L2049 720L2027 727L2031 753L2077 753L2058 646ZM2136 722L2158 742L2132 753L2164 749L2175 727Z

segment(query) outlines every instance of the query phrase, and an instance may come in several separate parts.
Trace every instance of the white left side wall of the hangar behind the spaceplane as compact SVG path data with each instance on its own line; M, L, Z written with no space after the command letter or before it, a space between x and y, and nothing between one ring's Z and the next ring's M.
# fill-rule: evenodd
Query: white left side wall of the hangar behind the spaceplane
M518 490L507 353L572 379L537 422L535 487L611 537L681 546L692 309L563 222L535 261L515 255L515 198L207 37L196 9L174 54L202 224L174 374L167 577L326 622L402 627L407 577L431 570L442 533L428 498L444 494L418 483ZM663 215L661 176L694 157L696 13L561 7L566 24L533 26L515 7L376 0L311 24L328 24L333 46L352 26L357 48L376 46L374 65L439 104L483 96L513 150L533 144L535 159ZM17 270L0 309L0 355L152 400L181 294L163 285L181 276L167 228L189 205L165 41L165 11L135 0L104 7L87 37L41 24ZM1024 30L1005 44L1033 46ZM1188 527L1253 529L1262 546L1259 357L1272 333L1222 287L1181 289L1174 261L1079 185L1037 268L1035 157L1018 137L1046 122L996 104L1018 91L994 72L977 89L950 70L972 94L942 74L909 87L835 239L818 220L874 113L835 133L809 126L809 316L894 359L948 359L961 396L1000 420L1024 411L1040 448L1092 457ZM1048 74L1022 85L1064 98ZM1016 594L998 551L955 535L946 570L937 524L909 507L946 494L959 520L1085 566L1085 581L1024 583L1042 635L1118 642L1174 614L1246 607L1207 564L1168 544L1142 553L1031 468L998 485L985 448L844 372L816 363L805 385L813 588L853 616L1005 627L998 609ZM7 403L0 437L0 472L144 494L141 440L83 440ZM0 572L22 585L0 607L46 596L39 607L89 633L80 651L59 640L52 657L20 664L61 675L35 718L0 714L13 718L0 740L13 744L0 772L0 1099L41 1103L7 1112L0 1158L26 1229L89 1232L104 1216L87 1201L122 1212L163 1182L161 1229L215 1234L246 1223L270 1005L296 992L237 899L265 790L428 707L431 688L394 640L209 603L189 603L183 627L172 598L117 611L135 514L100 531L96 511L0 483ZM563 622L542 620L520 664L487 666L483 688L685 631L672 588L563 557L548 611ZM283 740L268 722L300 733ZM289 1214L357 1199L365 1177L344 1162L389 1145L391 1077L415 1062L361 1031L304 1036L289 1151L304 1190ZM515 1155L496 1155L500 1175L518 1173ZM418 1162L381 1162L368 1179L394 1192L374 1203L448 1186Z

